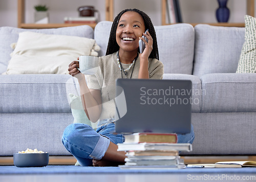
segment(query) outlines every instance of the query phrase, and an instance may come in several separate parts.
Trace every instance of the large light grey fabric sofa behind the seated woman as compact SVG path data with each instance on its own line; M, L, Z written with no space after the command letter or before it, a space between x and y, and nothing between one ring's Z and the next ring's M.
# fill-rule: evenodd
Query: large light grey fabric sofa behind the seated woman
M94 38L103 56L112 22L46 30L47 34ZM235 73L244 28L175 24L155 27L164 79L193 82L193 151L184 155L256 154L256 74ZM17 28L0 28L0 74L6 71L18 39ZM71 60L72 61L72 60ZM75 84L74 84L75 82ZM69 155L61 135L74 118L69 93L76 79L68 74L0 75L0 155L37 148L50 155Z

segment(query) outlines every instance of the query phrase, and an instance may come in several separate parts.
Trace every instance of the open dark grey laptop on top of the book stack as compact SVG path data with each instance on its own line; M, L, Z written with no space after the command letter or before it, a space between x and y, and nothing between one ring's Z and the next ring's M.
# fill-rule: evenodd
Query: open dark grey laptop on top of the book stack
M117 79L115 133L190 133L188 80Z

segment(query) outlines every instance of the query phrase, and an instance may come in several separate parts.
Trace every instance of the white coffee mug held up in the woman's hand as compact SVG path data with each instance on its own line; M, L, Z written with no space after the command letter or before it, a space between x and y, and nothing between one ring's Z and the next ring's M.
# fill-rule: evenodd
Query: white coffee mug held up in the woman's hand
M95 74L99 69L99 58L95 56L79 56L78 70L83 74Z

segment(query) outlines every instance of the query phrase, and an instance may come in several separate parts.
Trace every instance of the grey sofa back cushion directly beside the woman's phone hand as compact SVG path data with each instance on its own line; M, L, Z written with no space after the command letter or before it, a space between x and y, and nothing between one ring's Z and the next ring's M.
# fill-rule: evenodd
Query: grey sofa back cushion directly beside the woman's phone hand
M156 26L155 30L164 73L192 74L195 46L193 26L182 23Z

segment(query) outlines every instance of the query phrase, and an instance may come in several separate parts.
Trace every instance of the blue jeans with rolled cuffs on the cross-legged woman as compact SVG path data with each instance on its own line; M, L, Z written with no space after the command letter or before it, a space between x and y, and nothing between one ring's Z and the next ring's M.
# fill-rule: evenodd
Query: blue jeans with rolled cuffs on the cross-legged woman
M92 160L100 160L109 147L110 141L114 144L123 143L123 135L110 134L115 129L115 123L107 123L96 129L83 123L73 123L66 127L62 135L62 143L74 155L81 166L92 166ZM194 129L191 125L189 134L178 134L178 143L193 143Z

